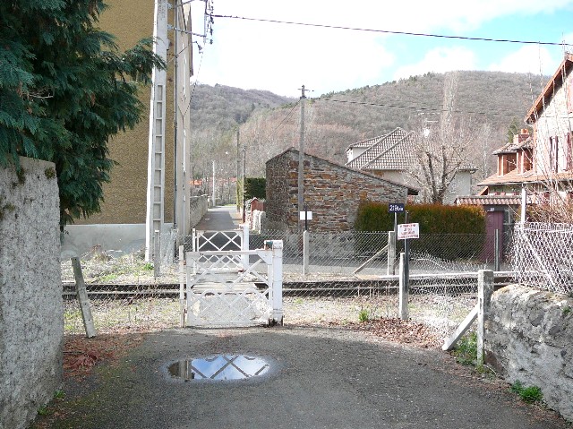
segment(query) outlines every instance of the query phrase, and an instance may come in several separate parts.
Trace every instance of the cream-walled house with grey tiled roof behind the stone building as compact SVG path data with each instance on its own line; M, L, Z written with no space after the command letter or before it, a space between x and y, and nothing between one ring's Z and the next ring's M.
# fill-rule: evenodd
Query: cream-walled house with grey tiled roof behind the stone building
M355 142L346 149L346 166L368 171L406 186L417 186L409 175L416 162L416 139L416 133L398 127L390 133ZM464 167L458 171L449 185L445 203L453 203L459 194L471 193L473 171L472 167ZM423 194L420 194L417 200L423 201Z

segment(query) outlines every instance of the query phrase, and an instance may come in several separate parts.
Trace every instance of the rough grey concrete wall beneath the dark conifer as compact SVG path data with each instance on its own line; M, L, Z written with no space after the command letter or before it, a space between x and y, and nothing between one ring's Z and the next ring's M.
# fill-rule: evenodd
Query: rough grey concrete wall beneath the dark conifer
M62 382L56 170L21 166L0 168L0 429L26 427Z

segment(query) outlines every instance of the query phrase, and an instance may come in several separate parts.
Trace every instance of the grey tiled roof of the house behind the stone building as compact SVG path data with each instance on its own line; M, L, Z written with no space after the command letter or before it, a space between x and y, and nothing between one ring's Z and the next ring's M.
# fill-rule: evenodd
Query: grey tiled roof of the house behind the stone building
M414 133L396 128L391 133L375 137L372 146L346 163L347 167L369 170L404 169L413 160L408 148L413 144ZM368 141L366 141L368 142Z

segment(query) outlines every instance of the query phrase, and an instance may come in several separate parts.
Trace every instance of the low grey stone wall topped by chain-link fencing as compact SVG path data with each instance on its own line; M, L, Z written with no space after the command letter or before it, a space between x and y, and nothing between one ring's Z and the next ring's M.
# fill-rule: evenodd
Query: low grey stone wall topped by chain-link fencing
M485 359L508 382L538 386L543 400L573 420L573 298L531 287L492 296Z

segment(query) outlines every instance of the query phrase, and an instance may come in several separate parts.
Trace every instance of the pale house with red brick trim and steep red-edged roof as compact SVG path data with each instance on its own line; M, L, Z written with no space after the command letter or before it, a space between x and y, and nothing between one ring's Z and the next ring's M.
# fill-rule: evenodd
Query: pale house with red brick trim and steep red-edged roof
M522 189L528 204L569 199L573 187L573 55L566 54L557 71L547 82L525 122L512 142L495 150L497 171L478 186L476 196L458 197L458 204L482 205L487 212L488 235L494 229L507 235L521 204Z

